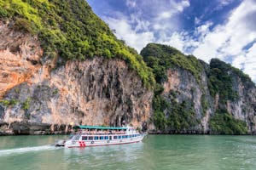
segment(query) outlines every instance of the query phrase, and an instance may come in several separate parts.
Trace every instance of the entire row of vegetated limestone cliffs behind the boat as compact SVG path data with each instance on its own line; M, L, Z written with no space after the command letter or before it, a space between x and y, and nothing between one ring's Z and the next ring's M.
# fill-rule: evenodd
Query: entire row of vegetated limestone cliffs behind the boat
M0 29L0 135L124 124L148 133L256 133L250 77L163 44L137 54L84 0L0 1Z

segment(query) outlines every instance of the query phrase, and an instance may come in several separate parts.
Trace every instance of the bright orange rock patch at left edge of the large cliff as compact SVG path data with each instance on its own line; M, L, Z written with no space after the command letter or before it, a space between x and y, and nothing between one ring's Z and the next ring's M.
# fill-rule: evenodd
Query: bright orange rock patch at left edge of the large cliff
M42 55L37 37L15 31L14 22L0 20L0 99L10 88L30 80Z

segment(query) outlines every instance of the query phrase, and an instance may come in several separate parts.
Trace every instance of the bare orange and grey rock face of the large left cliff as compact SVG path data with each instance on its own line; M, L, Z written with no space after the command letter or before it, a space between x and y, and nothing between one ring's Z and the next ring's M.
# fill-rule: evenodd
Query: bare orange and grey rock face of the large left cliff
M0 29L2 131L61 133L74 124L148 126L153 92L125 61L70 60L52 70L55 59L42 60L36 37L12 30L9 23L1 22Z

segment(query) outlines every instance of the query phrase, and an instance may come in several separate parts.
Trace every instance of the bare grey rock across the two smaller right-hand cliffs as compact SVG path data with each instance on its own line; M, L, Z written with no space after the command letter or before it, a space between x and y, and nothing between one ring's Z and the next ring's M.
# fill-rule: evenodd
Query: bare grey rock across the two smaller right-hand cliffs
M175 92L178 103L186 100L194 105L195 116L200 120L197 126L190 127L188 133L210 133L209 121L218 109L225 109L236 119L246 122L248 133L256 133L256 88L253 83L243 82L241 77L230 72L232 90L238 94L238 97L223 103L218 97L219 94L211 96L206 70L201 72L201 83L196 82L189 71L178 67L169 69L167 75L166 82L162 84L164 91L161 95L170 101ZM207 107L204 108L203 102L207 103Z

